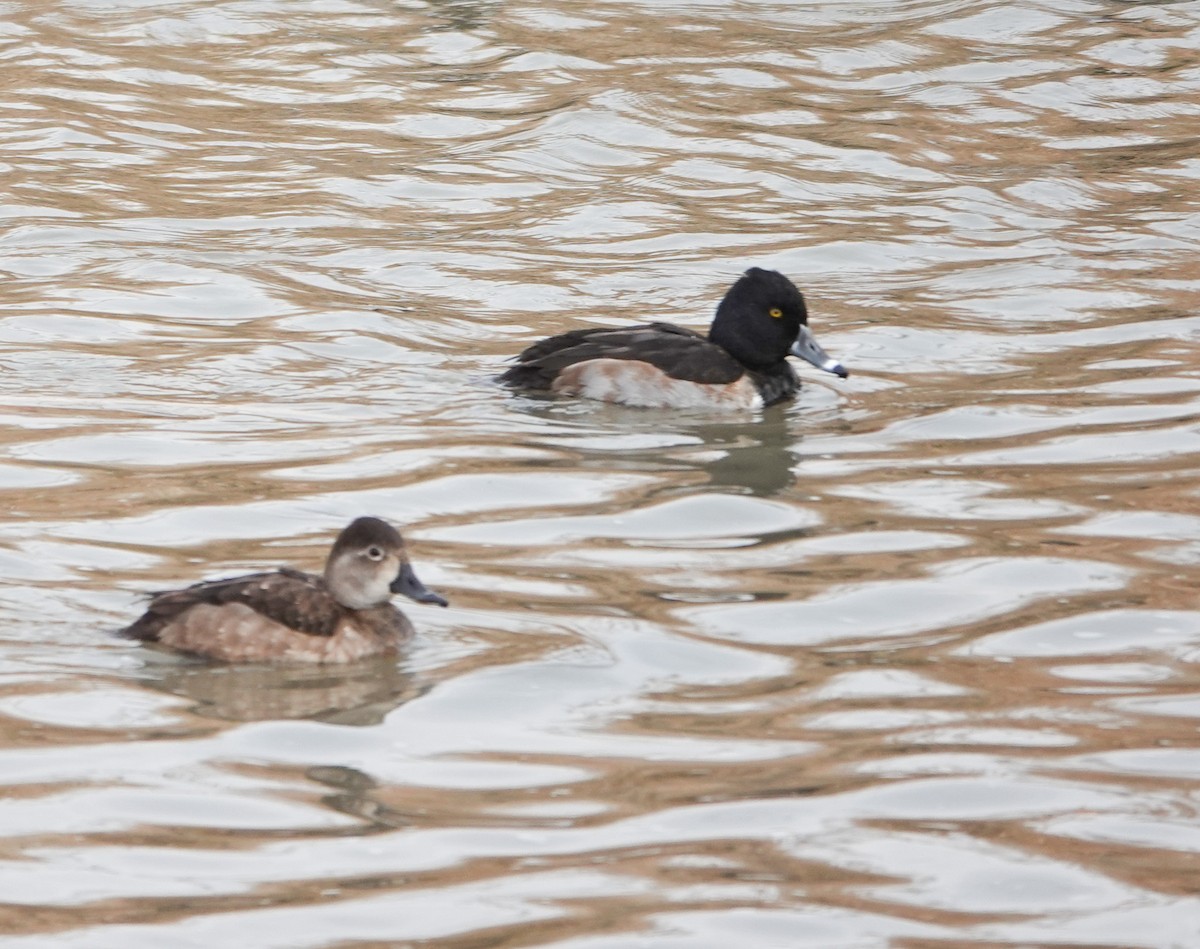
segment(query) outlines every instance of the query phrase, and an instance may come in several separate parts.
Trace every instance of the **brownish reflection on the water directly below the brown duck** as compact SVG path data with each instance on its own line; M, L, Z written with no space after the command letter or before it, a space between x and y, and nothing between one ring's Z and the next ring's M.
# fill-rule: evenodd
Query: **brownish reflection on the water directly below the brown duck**
M396 662L373 660L337 667L223 666L181 660L151 665L145 684L184 696L193 711L224 721L313 719L334 725L378 725L420 695Z

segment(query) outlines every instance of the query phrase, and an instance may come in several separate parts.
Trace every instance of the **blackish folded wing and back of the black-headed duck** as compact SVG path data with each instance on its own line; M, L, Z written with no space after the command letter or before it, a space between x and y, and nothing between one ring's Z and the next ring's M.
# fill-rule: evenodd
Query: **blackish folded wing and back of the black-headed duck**
M624 329L572 330L534 343L499 380L526 389L550 389L568 366L593 359L647 362L672 379L724 385L742 378L744 367L694 330L670 323Z

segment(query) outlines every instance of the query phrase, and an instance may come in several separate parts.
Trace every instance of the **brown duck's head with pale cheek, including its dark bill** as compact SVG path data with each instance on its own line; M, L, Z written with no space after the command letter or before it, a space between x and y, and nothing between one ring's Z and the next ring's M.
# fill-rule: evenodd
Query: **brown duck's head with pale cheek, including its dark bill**
M378 517L359 517L337 535L325 561L325 585L350 609L383 606L394 593L446 606L416 578L400 531Z

